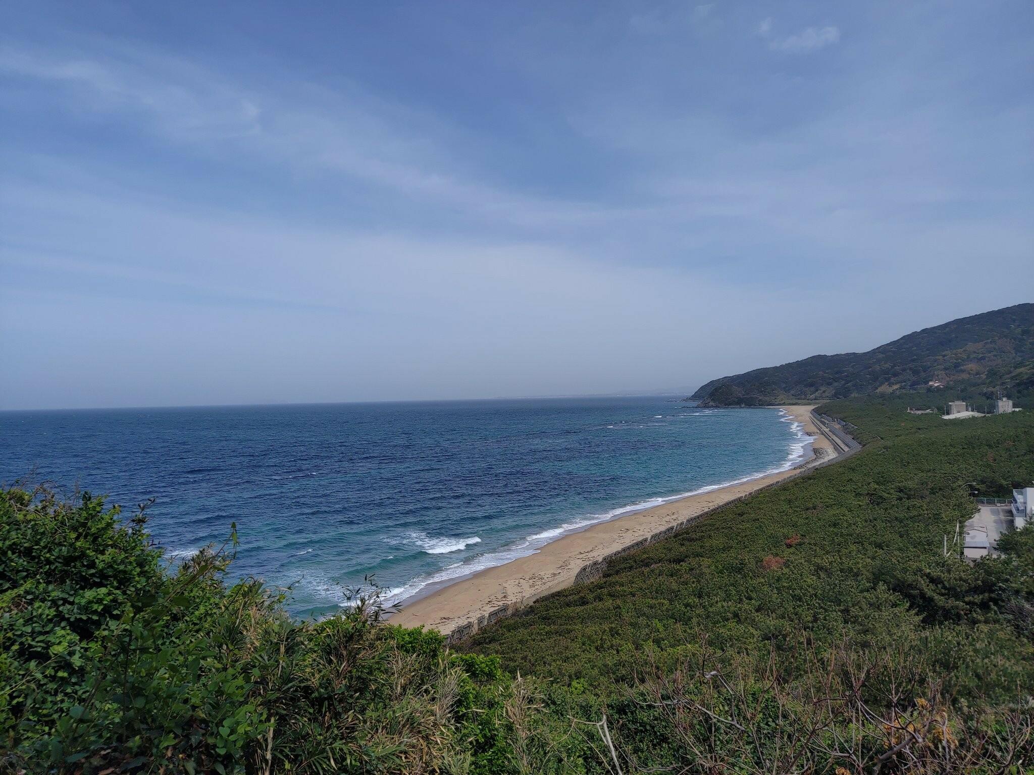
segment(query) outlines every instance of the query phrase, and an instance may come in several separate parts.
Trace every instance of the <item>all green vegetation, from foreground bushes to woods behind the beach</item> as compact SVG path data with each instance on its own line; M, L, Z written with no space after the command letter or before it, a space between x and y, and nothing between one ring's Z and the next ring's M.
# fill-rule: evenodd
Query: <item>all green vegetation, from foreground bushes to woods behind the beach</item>
M1034 414L896 404L827 405L861 453L459 652L375 600L291 620L224 582L234 536L170 568L144 516L4 491L0 773L1028 772L1034 528L941 550L1034 479Z

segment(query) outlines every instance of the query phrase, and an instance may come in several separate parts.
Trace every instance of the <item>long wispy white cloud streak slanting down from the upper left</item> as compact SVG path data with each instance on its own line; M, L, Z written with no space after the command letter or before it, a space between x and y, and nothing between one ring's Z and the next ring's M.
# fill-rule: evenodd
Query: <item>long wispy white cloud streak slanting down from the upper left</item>
M452 148L462 147L462 137L432 117L358 87L341 94L302 84L292 96L272 94L176 57L127 47L103 57L7 47L0 49L0 74L41 82L60 90L74 111L142 123L181 147L207 153L232 147L490 220L536 225L613 215L464 176L466 165Z

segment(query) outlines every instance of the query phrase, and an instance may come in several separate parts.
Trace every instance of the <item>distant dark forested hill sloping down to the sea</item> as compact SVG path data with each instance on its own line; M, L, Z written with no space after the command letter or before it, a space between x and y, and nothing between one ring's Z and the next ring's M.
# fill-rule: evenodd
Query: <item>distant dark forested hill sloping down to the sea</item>
M1034 304L962 317L908 334L868 352L803 361L713 379L693 398L711 406L763 406L917 391L1034 391ZM940 390L938 388L935 389Z

